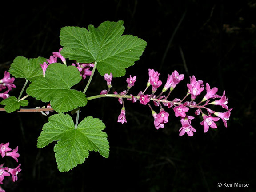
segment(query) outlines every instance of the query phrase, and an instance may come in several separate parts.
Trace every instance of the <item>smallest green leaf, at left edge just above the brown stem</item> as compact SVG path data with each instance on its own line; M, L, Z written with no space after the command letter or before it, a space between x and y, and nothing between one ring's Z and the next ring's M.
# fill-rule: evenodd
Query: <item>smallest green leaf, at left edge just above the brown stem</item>
M2 100L0 104L5 105L4 106L5 111L10 113L18 110L20 106L23 106L23 107L28 106L28 100L18 101L18 99L15 96L10 96Z

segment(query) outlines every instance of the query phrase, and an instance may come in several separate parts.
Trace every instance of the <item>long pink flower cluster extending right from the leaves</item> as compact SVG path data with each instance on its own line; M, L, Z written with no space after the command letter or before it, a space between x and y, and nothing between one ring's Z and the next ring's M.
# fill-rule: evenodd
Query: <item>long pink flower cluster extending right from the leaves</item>
M193 136L194 132L196 132L196 129L191 125L191 120L193 120L195 117L188 115L188 112L190 111L191 108L196 108L196 111L194 112L195 115L202 115L203 121L200 123L200 125L203 126L204 132L208 132L209 127L217 128L215 122L220 119L223 121L225 127L228 126L227 120L229 120L230 111L232 110L232 108L229 109L227 106L228 99L225 96L225 91L223 92L222 96L219 96L216 94L218 88L210 88L210 85L208 83L206 83L206 87L204 87L204 82L202 80L196 80L195 76L190 76L190 83L187 84L188 91L186 92L184 98L174 98L173 100L168 100L170 93L174 90L174 88L176 88L176 85L184 79L184 74L179 74L176 70L172 72L172 74L168 74L166 84L164 85L162 92L158 96L156 96L155 93L157 89L162 85L162 81L159 79L160 73L155 71L154 69L148 69L148 76L149 78L144 92L140 91L137 95L127 95L129 89L132 88L132 86L134 86L134 83L136 81L136 76L132 77L131 75L126 80L126 82L128 83L128 89L126 91L121 92L120 94L118 94L116 91L114 92L114 94L118 98L119 103L123 105L123 108L117 120L118 122L122 124L127 122L125 117L125 108L123 100L123 98L126 98L127 100L131 100L133 103L139 100L140 104L149 106L149 108L152 111L152 116L154 118L154 125L156 129L164 128L164 124L168 123L169 113L164 110L163 105L168 108L172 108L174 115L180 118L180 136L184 135L185 133L187 133L188 136ZM107 81L108 88L110 89L112 76L105 74L104 78ZM150 86L152 86L151 94L145 94L146 90ZM162 95L164 92L168 90L169 92L167 96ZM195 99L198 96L201 96L204 90L206 91L206 93L204 94L202 100L196 103ZM108 94L108 92L109 90L103 90L100 94ZM188 101L184 101L189 95L191 99ZM210 99L213 99L213 101L210 102ZM149 104L150 101L153 101L153 104L155 106L160 107L159 113L156 113L152 109L151 105ZM210 105L219 105L222 108L226 109L226 112L216 112L209 108ZM207 114L205 114L202 110L205 110Z

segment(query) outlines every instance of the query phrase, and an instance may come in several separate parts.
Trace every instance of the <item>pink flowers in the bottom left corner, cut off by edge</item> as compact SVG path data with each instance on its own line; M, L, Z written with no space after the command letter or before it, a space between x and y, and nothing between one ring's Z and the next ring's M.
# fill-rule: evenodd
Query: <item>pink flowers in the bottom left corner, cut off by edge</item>
M10 156L18 162L18 157L20 156L18 152L18 146L15 149L9 148L9 143L0 144L0 154L2 158L4 156ZM0 184L3 184L3 180L5 176L12 176L12 181L15 182L18 180L18 173L21 171L20 164L16 168L8 168L4 167L4 163L0 164ZM0 192L5 192L3 188L0 186Z

